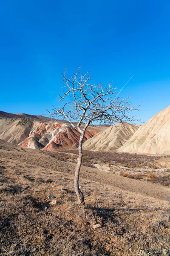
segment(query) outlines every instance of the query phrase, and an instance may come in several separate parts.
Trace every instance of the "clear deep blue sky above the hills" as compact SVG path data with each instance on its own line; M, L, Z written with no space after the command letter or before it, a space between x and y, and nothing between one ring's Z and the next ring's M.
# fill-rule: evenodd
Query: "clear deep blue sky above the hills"
M170 1L6 0L0 7L0 110L57 106L61 73L90 70L132 96L146 122L170 105Z

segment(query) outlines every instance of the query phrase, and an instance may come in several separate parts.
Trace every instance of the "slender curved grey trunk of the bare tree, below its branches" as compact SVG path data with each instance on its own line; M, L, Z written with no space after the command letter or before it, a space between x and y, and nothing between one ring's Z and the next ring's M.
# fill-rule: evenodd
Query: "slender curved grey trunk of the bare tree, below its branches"
M85 131L83 130L79 140L79 156L78 156L78 161L77 161L77 166L76 166L75 176L74 176L74 189L75 189L79 204L84 204L84 195L79 189L79 172L80 172L80 167L82 165L82 142L84 139L84 135L85 135Z

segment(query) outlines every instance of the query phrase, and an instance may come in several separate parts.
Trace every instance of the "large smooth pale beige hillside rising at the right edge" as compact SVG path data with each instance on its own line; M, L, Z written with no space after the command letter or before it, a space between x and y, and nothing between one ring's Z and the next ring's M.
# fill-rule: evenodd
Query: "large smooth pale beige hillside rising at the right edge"
M142 125L118 152L170 154L170 106Z

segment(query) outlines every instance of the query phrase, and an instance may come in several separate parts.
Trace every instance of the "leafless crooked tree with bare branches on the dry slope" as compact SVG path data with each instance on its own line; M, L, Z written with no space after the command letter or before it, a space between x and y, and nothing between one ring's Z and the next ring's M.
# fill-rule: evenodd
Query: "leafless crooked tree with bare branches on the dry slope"
M80 66L81 67L81 66ZM117 122L134 122L135 116L129 116L129 112L138 110L126 99L118 97L116 87L109 84L92 84L89 71L84 75L79 75L80 67L73 76L66 76L65 67L62 73L64 81L63 95L59 95L59 101L63 101L62 107L52 109L52 113L48 113L52 117L64 118L80 132L79 139L79 155L74 177L74 188L77 194L79 204L84 203L84 196L79 189L79 172L82 164L82 143L85 131L88 125L97 122L98 124L113 125ZM65 103L64 103L65 102Z

